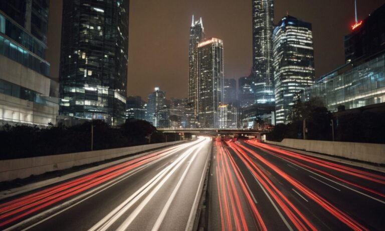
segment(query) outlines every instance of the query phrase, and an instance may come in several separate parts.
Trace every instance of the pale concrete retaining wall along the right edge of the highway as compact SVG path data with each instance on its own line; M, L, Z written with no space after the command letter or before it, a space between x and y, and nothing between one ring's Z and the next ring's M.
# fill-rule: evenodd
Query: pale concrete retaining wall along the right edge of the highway
M266 143L284 147L324 153L333 156L385 164L385 144L332 142L320 140L283 139L282 142L266 140Z

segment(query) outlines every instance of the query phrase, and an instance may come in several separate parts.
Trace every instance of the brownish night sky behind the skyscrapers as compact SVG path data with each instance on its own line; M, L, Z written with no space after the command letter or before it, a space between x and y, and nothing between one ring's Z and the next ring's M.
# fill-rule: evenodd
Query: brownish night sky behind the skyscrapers
M385 0L357 2L358 19L385 4ZM202 17L207 38L224 41L225 78L248 76L251 4L251 0L131 0L127 95L147 100L147 94L158 86L167 98L187 97L193 14L196 19ZM47 60L54 79L59 76L61 8L62 0L50 0ZM274 22L286 12L313 25L316 78L344 64L343 36L354 23L354 0L276 0Z

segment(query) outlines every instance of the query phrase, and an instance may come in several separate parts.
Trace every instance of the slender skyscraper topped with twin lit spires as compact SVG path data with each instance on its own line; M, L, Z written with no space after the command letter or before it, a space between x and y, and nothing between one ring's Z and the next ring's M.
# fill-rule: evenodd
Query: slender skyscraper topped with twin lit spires
M198 44L205 39L205 29L202 18L191 22L188 50L188 101L194 106L194 113L198 113Z

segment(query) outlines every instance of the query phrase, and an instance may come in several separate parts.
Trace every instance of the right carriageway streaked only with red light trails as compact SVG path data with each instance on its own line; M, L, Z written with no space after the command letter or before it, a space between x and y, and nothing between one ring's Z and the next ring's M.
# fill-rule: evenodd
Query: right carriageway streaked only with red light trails
M385 174L253 140L213 145L208 230L384 230Z

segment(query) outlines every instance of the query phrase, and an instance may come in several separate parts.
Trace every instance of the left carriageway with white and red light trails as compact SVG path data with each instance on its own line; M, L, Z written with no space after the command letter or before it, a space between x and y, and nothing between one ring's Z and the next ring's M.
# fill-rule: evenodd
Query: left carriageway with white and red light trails
M0 201L0 230L190 230L212 140L200 137Z

